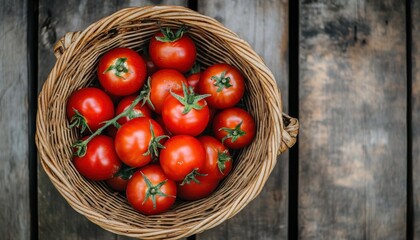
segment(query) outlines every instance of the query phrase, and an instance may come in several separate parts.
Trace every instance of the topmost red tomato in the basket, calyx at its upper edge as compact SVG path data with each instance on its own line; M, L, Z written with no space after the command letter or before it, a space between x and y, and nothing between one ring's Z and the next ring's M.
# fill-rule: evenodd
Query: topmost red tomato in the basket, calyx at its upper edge
M175 34L169 29L162 29L150 40L149 55L159 68L176 69L187 72L194 65L197 50L190 37L179 29Z

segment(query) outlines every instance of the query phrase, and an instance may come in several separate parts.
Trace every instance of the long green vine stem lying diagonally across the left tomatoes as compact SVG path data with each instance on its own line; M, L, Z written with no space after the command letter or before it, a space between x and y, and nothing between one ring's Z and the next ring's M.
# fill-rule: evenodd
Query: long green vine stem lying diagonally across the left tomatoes
M122 113L115 116L113 119L111 119L109 121L106 121L105 124L101 128L99 128L94 133L92 133L92 135L90 135L87 139L76 141L72 145L72 148L74 149L73 155L78 156L78 157L83 157L86 154L87 144L94 137L101 134L107 127L109 127L111 125L114 125L116 128L119 128L120 124L117 122L118 119L128 116L130 114L130 112L133 110L134 106L136 106L136 104L139 103L143 98L144 98L144 96L142 95L142 93L140 93L139 96L137 96L136 99L134 99L134 101L131 103L131 105L126 110L124 110Z

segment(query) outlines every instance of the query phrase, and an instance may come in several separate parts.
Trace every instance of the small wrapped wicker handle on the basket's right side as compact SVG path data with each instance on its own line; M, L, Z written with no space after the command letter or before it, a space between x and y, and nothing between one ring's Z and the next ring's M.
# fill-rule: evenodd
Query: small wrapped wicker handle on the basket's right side
M282 139L278 154L281 154L287 149L291 148L296 143L297 135L299 133L299 121L297 120L297 118L292 118L285 113L282 113L282 117Z

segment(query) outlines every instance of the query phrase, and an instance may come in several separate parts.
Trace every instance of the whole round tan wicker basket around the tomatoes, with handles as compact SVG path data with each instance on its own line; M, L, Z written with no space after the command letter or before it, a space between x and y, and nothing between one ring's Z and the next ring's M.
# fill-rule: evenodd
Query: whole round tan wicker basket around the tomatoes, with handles
M194 202L180 202L170 211L144 216L105 184L83 178L71 161L77 133L68 129L65 105L76 89L95 79L99 57L117 47L142 48L160 26L190 27L198 61L208 66L227 62L245 75L245 105L257 123L253 143L235 160L232 173L216 192ZM128 8L66 34L55 46L58 60L39 96L36 143L49 178L79 213L111 232L143 239L189 236L234 216L262 190L278 154L296 141L297 119L282 113L281 95L270 70L248 43L216 20L175 6Z

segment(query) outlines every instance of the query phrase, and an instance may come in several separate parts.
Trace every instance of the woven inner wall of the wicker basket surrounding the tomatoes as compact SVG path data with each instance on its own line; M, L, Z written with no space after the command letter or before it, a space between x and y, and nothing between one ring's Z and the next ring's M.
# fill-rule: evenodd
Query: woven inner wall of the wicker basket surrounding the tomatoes
M257 131L253 143L241 150L235 158L231 174L209 197L193 202L177 202L168 212L144 216L136 212L125 197L110 190L106 184L93 182L82 177L72 164L70 146L78 138L76 131L68 129L65 105L68 96L75 90L89 85L96 79L98 59L108 50L115 47L129 47L141 51L159 27L189 27L189 36L193 38L198 50L198 62L206 67L214 63L226 62L237 67L246 78L244 102L247 110L256 121ZM272 169L272 128L270 119L272 107L268 104L266 89L254 63L246 56L239 55L232 43L224 41L217 35L217 29L208 29L191 21L139 19L134 22L121 22L112 29L91 34L84 42L79 42L71 56L67 56L66 67L60 73L48 107L48 131L51 150L55 153L55 165L60 169L66 186L66 199L73 199L71 205L93 222L106 222L107 228L114 232L125 232L130 235L135 229L168 230L168 236L175 236L185 228L197 228L197 225L217 222L219 219L232 216L232 211L240 208L232 206L245 205L255 196L262 186L255 184L268 177ZM275 84L275 83L274 83ZM270 142L271 141L271 142ZM274 143L275 144L275 143ZM56 176L54 172L52 176ZM59 189L60 190L60 189ZM63 191L60 190L63 194ZM242 208L242 207L241 207ZM147 230L148 229L148 230ZM144 231L143 231L144 232ZM147 235L147 233L146 233ZM143 235L143 236L146 236Z

